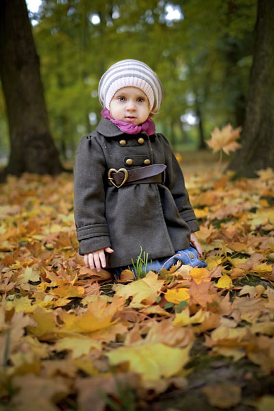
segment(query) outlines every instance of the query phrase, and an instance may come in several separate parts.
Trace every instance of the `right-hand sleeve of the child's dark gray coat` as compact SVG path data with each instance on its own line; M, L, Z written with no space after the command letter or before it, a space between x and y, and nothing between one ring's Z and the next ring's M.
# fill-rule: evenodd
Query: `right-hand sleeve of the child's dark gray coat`
M166 158L166 181L164 185L171 191L179 214L182 216L182 219L186 221L191 232L199 231L199 225L189 201L181 167L175 158L169 141L162 134L158 134L158 136L162 138Z

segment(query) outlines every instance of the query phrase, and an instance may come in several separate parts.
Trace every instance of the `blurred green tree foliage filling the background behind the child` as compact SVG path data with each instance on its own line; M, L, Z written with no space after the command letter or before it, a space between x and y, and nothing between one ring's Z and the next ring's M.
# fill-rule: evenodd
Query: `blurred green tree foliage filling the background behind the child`
M181 18L168 20L169 6ZM63 158L73 158L79 138L96 127L99 79L124 58L146 62L160 77L164 103L155 123L175 149L199 145L201 127L182 127L184 114L197 117L206 138L214 126L242 125L256 0L44 0L30 17L38 21L34 38L51 131ZM7 155L1 93L0 133Z

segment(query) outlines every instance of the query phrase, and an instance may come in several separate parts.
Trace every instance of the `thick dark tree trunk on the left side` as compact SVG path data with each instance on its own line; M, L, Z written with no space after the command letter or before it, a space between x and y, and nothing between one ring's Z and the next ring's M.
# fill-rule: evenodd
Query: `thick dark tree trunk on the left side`
M25 0L0 0L0 75L10 128L5 174L60 173Z

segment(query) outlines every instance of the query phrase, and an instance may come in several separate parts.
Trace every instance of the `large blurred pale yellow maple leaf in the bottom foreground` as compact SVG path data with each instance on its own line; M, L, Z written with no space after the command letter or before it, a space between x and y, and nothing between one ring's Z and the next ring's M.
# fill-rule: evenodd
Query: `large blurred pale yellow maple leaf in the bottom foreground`
M162 343L145 346L119 347L107 353L111 365L129 363L129 370L142 376L143 380L171 377L178 373L189 360L191 345L184 349L167 347Z

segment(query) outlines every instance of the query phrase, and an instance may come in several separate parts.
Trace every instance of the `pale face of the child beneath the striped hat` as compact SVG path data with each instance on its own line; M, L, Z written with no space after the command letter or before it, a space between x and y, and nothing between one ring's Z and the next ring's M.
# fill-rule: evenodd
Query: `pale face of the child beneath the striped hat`
M120 88L110 101L110 115L114 120L138 125L147 120L149 113L149 99L137 87Z

